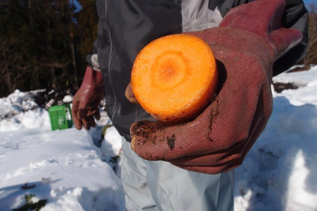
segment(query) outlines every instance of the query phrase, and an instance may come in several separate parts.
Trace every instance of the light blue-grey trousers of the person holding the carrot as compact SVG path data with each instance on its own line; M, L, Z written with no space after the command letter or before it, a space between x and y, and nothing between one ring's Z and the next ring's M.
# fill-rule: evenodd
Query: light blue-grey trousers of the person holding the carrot
M121 179L128 211L233 211L233 171L209 175L147 161L124 138Z

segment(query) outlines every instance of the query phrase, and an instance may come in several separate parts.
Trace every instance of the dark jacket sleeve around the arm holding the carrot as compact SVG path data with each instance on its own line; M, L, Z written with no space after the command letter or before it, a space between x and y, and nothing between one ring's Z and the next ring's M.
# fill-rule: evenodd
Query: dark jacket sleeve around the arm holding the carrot
M253 2L255 0L209 0L209 9L218 7L221 16L224 17L231 8L240 4ZM308 12L302 0L285 0L286 6L282 16L284 28L295 28L301 31L303 39L299 44L290 49L273 65L273 76L276 76L293 66L302 59L306 53L308 42Z

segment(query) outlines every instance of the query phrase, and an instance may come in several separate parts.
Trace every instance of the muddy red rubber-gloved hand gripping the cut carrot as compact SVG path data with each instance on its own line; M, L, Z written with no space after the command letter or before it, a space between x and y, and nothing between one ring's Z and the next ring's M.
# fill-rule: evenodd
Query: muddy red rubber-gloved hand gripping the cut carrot
M243 4L230 9L218 28L188 33L213 51L218 93L194 121L174 126L134 123L132 150L146 160L207 174L242 164L272 113L273 63L302 38L300 31L281 27L284 8L284 0ZM133 94L126 96L134 100Z

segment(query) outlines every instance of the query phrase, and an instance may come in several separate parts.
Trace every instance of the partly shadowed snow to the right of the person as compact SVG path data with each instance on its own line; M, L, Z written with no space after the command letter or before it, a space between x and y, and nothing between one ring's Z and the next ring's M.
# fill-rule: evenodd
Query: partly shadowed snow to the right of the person
M272 116L235 169L235 211L317 210L317 66L309 71L278 79L304 87L272 90Z

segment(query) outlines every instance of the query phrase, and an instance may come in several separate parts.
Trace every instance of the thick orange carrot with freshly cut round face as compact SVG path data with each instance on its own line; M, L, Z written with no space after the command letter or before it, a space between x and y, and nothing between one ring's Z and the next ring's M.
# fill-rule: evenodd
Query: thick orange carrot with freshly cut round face
M215 57L196 36L174 34L144 47L136 57L131 86L139 104L167 124L196 118L218 85Z

